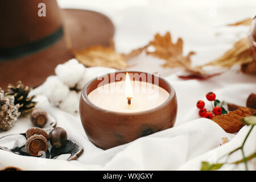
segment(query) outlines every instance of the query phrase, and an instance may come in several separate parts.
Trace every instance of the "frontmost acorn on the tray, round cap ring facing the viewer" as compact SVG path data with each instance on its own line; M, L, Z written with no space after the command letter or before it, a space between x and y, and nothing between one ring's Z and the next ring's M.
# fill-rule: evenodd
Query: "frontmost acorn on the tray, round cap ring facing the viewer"
M43 135L33 135L27 139L25 148L33 156L41 156L48 149L48 142ZM43 151L43 152L42 152Z

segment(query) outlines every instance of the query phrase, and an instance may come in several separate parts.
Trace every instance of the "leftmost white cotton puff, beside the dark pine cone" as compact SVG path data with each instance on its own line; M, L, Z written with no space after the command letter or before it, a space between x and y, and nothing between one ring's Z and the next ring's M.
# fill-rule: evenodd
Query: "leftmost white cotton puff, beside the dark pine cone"
M68 85L65 85L57 76L49 76L44 82L44 87L46 88L44 94L53 105L59 105L59 102L63 101L70 92Z

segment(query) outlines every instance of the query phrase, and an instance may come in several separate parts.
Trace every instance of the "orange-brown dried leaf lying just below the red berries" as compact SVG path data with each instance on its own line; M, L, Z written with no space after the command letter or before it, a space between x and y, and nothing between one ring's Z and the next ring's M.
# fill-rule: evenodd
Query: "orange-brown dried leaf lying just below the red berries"
M216 115L212 118L214 122L222 127L227 133L238 132L245 124L242 118L251 115L251 110L247 107L240 107L228 114Z

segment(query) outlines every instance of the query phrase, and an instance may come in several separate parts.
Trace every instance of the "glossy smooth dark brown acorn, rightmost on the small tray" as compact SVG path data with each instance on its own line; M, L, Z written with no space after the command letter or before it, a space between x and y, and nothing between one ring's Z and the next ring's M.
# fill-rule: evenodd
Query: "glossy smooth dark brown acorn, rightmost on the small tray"
M56 127L49 134L49 141L51 142L52 147L54 148L63 147L67 142L67 139L67 132L61 127Z

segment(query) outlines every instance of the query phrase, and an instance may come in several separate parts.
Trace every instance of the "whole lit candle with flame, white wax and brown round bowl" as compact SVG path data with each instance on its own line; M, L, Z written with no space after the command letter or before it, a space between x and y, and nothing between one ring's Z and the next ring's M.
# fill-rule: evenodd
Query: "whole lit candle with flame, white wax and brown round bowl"
M105 150L173 127L176 93L154 74L108 73L84 86L79 114L88 139Z

